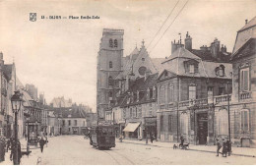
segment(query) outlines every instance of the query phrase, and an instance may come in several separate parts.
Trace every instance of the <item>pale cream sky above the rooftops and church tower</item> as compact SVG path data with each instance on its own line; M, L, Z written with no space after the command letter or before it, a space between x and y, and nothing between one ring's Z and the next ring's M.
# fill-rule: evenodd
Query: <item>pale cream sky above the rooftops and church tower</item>
M184 41L187 31L195 49L209 46L217 37L231 52L237 30L246 19L256 16L255 0L190 0L178 15L185 3L186 0L0 0L0 51L6 64L15 61L20 81L34 84L38 93L44 93L47 103L53 97L64 96L96 111L96 56L102 28L124 29L124 56L136 44L140 47L144 39L150 57L164 58L170 55L171 41L179 39L178 33ZM30 13L36 13L36 22L30 21ZM41 20L40 16L62 19ZM63 19L69 16L99 19Z

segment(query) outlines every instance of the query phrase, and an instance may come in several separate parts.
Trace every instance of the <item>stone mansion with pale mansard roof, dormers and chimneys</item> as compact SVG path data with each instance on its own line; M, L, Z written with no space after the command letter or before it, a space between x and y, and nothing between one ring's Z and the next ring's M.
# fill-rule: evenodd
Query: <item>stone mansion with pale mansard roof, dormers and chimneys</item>
M161 63L158 79L158 139L178 141L182 136L195 144L216 139L215 104L231 93L230 53L215 39L211 47L192 48L187 33L185 46L172 42L171 55ZM223 46L224 47L224 46Z

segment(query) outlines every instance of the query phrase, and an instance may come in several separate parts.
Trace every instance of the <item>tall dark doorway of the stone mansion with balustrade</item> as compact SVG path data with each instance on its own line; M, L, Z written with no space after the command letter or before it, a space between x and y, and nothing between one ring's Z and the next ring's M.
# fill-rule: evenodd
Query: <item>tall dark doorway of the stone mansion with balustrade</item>
M208 114L197 114L197 140L199 144L206 144L208 137Z

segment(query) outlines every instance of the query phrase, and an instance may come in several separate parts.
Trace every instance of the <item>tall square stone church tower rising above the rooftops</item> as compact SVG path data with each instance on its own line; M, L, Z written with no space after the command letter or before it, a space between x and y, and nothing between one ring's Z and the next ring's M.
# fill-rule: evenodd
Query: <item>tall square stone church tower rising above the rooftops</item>
M103 28L96 67L96 112L105 120L105 112L113 103L114 78L122 70L123 29Z

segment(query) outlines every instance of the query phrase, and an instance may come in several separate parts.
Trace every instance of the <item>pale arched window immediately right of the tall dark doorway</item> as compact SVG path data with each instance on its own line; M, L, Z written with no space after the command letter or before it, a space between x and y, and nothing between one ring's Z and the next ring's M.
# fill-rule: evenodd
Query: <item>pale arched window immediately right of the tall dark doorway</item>
M217 114L217 128L219 136L228 135L228 115L226 109L221 109Z

